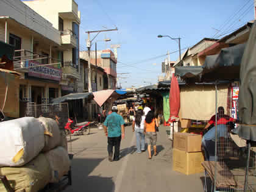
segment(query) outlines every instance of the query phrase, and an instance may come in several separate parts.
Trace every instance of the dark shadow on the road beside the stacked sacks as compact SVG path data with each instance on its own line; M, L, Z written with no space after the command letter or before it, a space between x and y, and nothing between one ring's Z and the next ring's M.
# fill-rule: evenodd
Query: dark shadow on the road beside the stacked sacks
M74 158L72 160L72 186L69 191L115 191L112 177L89 176L104 158Z

